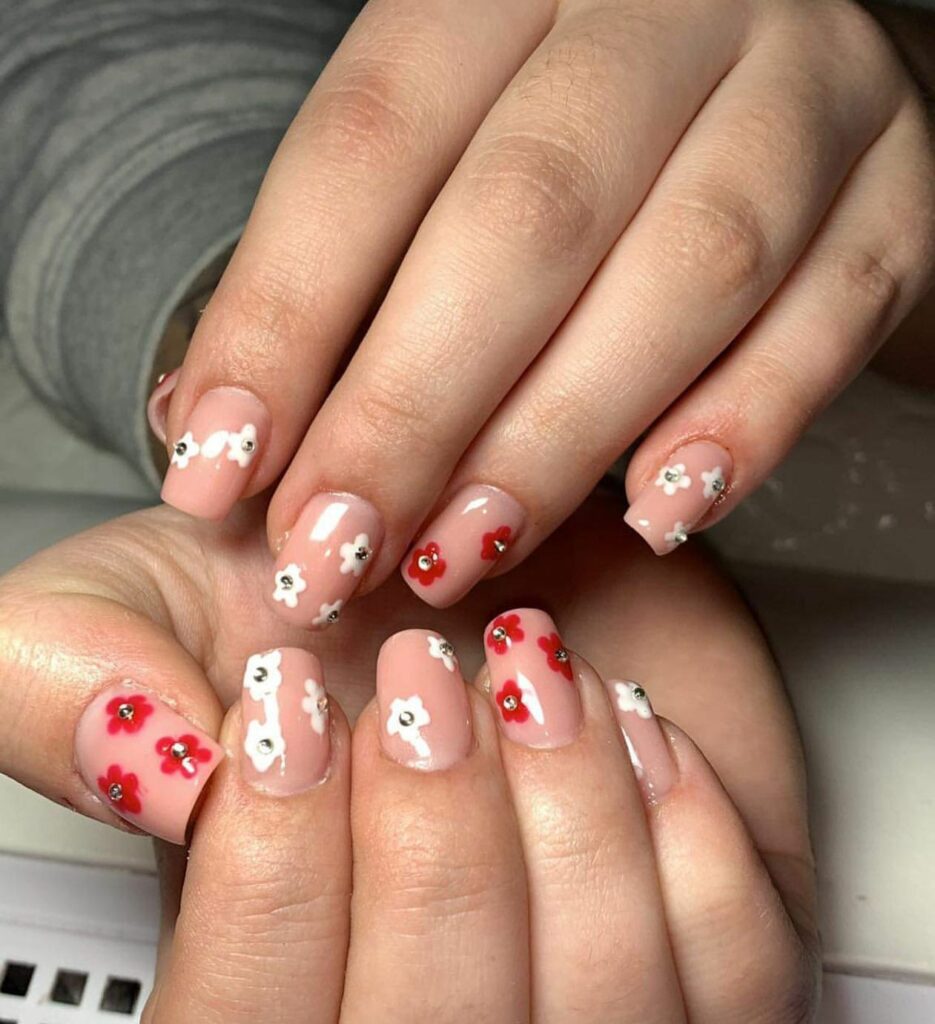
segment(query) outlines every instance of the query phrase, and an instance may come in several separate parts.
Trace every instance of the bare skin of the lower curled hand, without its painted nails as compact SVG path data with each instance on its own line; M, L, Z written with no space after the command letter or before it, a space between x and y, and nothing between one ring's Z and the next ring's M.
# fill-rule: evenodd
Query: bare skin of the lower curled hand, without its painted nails
M396 582L316 637L332 770L289 798L240 773L245 657L308 641L250 599L268 572L261 502L220 529L137 513L0 580L0 769L126 827L71 751L81 711L115 673L144 680L229 755L187 853L159 847L147 1024L809 1019L813 870L775 667L697 552L658 562L636 539L610 543L615 505L595 498L457 610L426 610ZM552 752L509 743L481 673L465 760L422 773L383 757L372 694L386 635L443 630L469 678L484 623L530 597L579 652L578 738ZM601 683L611 675L644 682L678 723L666 729L679 781L658 804L634 778Z

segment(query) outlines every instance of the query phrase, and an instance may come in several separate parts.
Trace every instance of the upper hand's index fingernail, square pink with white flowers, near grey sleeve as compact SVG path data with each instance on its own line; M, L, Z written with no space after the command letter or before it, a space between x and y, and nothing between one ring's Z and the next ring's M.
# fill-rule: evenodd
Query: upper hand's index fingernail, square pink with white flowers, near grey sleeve
M172 444L162 498L205 519L223 519L247 489L269 434L269 413L249 391L206 391Z

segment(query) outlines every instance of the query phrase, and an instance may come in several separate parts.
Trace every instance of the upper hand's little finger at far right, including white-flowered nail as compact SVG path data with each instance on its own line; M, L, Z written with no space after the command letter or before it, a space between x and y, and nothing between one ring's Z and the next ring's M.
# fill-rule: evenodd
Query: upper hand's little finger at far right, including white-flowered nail
M627 521L657 552L669 549L663 535L676 519L685 532L711 525L758 487L929 287L935 160L924 119L916 102L896 118L770 305L634 456ZM685 445L692 437L717 444ZM702 465L706 447L730 455ZM660 466L679 463L698 473L676 509L653 484ZM715 505L704 470L731 464L730 486Z

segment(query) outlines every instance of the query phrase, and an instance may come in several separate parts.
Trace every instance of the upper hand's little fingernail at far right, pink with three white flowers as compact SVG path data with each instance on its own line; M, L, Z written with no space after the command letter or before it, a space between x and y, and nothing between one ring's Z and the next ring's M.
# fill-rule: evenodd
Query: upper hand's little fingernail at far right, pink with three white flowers
M720 444L692 441L673 453L627 510L624 521L657 555L667 555L724 493L733 461Z

